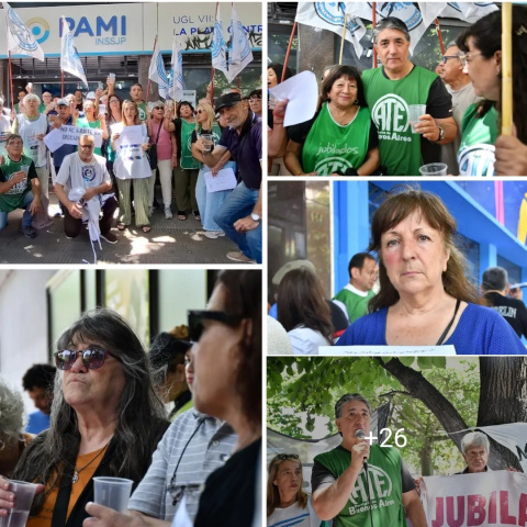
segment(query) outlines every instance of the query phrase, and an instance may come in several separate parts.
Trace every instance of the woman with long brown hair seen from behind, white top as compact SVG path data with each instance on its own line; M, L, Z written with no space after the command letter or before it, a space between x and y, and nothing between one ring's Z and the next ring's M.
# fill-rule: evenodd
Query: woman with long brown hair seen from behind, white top
M280 281L277 313L294 355L317 355L318 346L333 344L332 313L321 280L306 267L289 271Z

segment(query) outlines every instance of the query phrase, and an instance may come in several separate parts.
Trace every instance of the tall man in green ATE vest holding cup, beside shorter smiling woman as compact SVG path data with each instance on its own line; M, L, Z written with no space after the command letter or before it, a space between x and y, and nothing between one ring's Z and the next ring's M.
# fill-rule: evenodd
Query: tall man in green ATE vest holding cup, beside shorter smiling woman
M419 167L440 160L440 145L456 138L452 101L441 79L408 59L410 33L395 18L373 30L381 68L362 72L366 100L379 133L381 166L386 176L419 176ZM426 113L412 133L411 104L426 104Z

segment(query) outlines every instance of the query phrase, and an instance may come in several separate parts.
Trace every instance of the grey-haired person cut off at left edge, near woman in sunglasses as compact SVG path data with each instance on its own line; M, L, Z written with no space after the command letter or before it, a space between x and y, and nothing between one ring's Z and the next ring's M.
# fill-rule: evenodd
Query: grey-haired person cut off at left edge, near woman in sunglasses
M0 377L0 474L11 476L32 435L24 434L24 402Z

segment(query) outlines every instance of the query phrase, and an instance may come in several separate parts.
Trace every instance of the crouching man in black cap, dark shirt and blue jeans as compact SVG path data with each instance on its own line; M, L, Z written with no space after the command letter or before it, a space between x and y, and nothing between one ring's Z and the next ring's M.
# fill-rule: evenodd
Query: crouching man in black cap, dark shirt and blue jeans
M225 150L231 152L239 183L214 214L214 221L240 249L227 253L229 260L261 264L261 119L242 102L239 93L217 98L215 110L227 128L212 150L204 149L201 137L197 146L209 167L216 165Z

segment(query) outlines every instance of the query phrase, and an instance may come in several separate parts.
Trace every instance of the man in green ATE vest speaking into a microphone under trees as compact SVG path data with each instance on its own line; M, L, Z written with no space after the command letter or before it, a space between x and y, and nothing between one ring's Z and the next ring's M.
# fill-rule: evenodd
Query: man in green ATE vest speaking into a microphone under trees
M334 527L406 527L406 516L413 527L426 527L399 450L370 446L370 403L358 393L338 400L335 423L343 442L314 459L313 508L321 519L333 519Z

